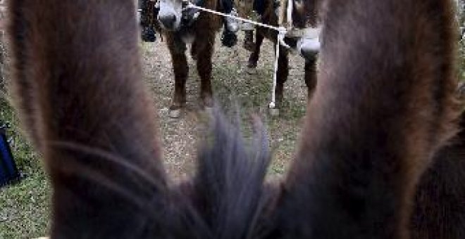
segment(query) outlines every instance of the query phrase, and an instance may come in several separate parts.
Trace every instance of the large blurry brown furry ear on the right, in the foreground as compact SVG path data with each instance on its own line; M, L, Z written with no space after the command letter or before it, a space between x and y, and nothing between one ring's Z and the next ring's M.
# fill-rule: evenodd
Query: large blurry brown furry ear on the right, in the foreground
M280 231L408 238L416 183L455 132L452 3L326 4L321 71L278 205Z

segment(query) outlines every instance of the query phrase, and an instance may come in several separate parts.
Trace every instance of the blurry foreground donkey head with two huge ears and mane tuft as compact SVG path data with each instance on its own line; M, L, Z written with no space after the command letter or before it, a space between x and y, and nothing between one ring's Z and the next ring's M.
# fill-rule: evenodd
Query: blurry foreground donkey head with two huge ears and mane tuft
M9 1L13 92L51 176L51 238L463 238L452 4L327 7L321 80L285 180L263 179L259 123L249 152L216 114L196 176L178 185L132 0Z

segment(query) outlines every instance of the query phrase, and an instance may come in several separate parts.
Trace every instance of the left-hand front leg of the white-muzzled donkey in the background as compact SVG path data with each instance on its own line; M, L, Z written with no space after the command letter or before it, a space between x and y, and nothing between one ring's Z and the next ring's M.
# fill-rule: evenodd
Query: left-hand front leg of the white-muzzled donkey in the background
M175 91L169 115L172 118L178 118L181 108L183 108L186 103L186 79L189 73L189 66L187 65L185 52L176 46L175 37L173 35L168 34L167 44L171 53L173 72L175 75Z

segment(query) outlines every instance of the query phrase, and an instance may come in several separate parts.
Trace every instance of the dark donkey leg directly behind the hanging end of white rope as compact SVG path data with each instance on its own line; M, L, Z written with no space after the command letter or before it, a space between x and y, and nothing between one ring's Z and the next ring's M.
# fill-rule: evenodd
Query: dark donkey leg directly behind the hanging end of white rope
M289 75L289 59L287 49L280 46L278 58L278 72L276 72L276 89L275 89L275 108L270 110L271 115L279 115L279 109L283 106L284 83Z

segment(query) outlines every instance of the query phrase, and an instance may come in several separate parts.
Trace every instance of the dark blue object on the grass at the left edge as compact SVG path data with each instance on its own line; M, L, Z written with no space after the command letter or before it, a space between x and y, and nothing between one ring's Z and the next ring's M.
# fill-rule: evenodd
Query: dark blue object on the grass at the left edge
M8 145L5 129L0 128L0 186L19 179L20 174Z

